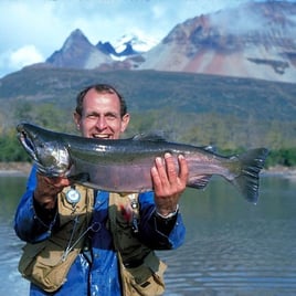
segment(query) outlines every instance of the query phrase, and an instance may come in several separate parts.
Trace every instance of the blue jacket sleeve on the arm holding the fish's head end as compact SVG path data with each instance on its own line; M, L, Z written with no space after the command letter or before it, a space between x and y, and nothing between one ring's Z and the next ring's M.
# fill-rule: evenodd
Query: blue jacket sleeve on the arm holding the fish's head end
M21 197L20 203L14 215L14 231L17 235L30 243L36 243L50 236L50 233L56 222L56 213L52 220L44 219L49 216L43 213L35 204L33 192L36 187L36 168L33 167L27 182L27 190ZM56 212L56 210L55 210Z

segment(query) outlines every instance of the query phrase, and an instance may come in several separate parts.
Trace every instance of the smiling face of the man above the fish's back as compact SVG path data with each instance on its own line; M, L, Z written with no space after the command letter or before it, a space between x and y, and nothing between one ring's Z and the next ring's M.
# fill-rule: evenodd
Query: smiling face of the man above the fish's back
M89 89L83 99L82 115L74 113L78 130L86 138L118 139L125 131L129 115L120 116L120 102L116 94Z

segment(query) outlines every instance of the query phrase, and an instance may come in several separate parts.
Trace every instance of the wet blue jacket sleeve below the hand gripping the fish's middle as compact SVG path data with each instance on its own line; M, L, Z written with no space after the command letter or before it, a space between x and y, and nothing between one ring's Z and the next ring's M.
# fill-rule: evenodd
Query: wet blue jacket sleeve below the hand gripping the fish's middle
M139 194L140 221L139 240L154 250L177 249L184 242L186 228L178 212L172 220L156 215L154 192Z

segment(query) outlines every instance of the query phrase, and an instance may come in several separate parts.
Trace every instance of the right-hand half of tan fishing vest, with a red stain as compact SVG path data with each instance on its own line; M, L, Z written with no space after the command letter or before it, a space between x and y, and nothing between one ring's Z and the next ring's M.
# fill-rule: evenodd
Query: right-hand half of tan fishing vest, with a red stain
M123 295L162 295L167 266L137 239L138 208L138 194L109 193L109 226L119 260Z

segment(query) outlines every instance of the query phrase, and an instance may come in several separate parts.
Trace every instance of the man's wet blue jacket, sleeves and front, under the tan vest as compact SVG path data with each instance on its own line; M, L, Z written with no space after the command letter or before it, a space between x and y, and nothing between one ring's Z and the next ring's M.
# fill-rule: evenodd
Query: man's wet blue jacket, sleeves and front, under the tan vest
M39 242L49 237L49 231L36 219L33 204L33 191L36 186L36 169L33 167L28 180L27 191L22 195L14 218L14 229L18 236L25 242ZM139 194L140 223L139 237L147 246L154 250L170 250L180 246L184 240L184 225L181 214L177 215L176 223L169 234L159 229L156 222L154 192ZM120 277L113 237L106 228L108 219L108 192L101 191L94 203L94 218L101 224L98 232L92 239L92 263L87 256L80 254L72 265L65 284L54 295L72 296L116 296L121 295ZM31 284L30 295L53 295Z

